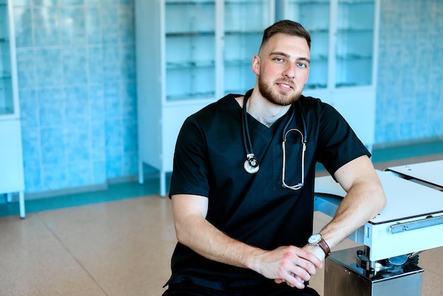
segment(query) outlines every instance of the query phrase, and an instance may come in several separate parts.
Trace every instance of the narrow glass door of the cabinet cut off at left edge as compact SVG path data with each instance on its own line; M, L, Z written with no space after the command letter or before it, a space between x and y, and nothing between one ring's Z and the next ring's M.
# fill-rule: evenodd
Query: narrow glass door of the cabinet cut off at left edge
M8 3L0 0L0 117L13 113Z

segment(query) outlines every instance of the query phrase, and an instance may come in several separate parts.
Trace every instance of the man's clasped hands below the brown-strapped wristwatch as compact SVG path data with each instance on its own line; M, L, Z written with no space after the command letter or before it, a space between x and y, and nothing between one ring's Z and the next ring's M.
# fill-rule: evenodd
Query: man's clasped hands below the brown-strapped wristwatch
M305 288L317 268L323 267L325 254L318 246L280 246L265 251L258 258L258 272L275 283L287 283L292 288Z

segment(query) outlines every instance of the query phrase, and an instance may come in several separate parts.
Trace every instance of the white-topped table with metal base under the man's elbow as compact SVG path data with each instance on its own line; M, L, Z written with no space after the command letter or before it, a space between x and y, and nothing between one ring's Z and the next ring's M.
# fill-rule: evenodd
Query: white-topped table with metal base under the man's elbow
M325 296L421 295L420 251L443 246L443 192L376 171L387 205L350 239L362 247L326 260ZM435 182L432 182L435 183ZM332 177L316 178L315 208L333 217L345 190Z

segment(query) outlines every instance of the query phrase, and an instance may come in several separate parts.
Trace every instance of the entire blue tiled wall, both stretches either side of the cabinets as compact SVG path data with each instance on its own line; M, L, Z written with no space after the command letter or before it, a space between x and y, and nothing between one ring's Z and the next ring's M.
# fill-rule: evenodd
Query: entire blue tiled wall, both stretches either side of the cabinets
M26 192L137 174L134 1L13 4ZM442 40L442 0L381 0L376 143L443 135Z

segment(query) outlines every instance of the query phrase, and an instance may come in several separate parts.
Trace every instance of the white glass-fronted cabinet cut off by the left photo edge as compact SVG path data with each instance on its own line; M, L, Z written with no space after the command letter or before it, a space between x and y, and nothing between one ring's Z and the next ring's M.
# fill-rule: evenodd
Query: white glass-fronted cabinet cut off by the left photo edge
M25 217L23 154L11 2L0 0L0 194L11 202L18 193L20 217Z

